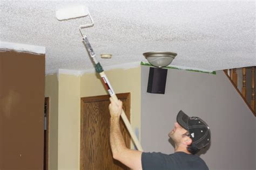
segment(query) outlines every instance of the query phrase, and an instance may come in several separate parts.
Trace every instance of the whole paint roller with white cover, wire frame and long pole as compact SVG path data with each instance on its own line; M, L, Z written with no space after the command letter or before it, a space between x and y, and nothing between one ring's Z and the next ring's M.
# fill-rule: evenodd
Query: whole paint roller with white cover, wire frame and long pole
M117 98L116 94L114 93L114 90L113 90L109 80L107 79L107 76L104 73L102 66L100 65L99 61L97 61L95 52L93 51L89 40L87 39L86 35L82 32L82 29L84 29L86 27L91 27L94 25L91 15L89 13L89 10L86 8L86 6L72 6L71 8L60 9L60 10L56 11L56 17L58 20L75 19L75 18L80 18L80 17L85 17L85 16L89 16L91 23L79 26L79 31L82 35L83 42L86 46L87 52L89 53L90 57L92 58L92 61L94 62L96 72L99 73L100 77L102 78L102 81L105 85L106 90L108 91L109 95L113 98L113 100L115 102L117 102L118 98ZM129 133L131 135L131 138L132 138L135 146L138 148L139 151L143 152L142 146L140 145L135 133L133 132L133 130L131 128L131 124L126 117L124 110L122 111L121 117L123 119L123 122L124 122L127 130L129 131Z

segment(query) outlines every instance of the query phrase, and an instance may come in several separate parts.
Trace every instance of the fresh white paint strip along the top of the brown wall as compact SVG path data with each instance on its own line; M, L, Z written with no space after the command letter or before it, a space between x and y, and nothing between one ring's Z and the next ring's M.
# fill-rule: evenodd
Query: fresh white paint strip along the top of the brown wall
M0 41L0 51L17 51L32 54L45 54L45 47Z

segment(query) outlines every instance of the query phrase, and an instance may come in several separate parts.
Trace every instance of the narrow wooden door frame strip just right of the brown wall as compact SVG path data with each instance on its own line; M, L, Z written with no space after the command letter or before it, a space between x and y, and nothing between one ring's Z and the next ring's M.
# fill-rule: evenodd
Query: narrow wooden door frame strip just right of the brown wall
M50 130L50 97L44 97L44 103L47 105L46 109L46 170L49 169L49 130Z

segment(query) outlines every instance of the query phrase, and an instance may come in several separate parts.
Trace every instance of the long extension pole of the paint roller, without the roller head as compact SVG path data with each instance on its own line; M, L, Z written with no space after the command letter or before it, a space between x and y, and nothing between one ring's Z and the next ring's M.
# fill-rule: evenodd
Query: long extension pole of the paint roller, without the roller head
M99 73L100 77L102 77L102 81L105 84L105 88L109 92L109 95L113 98L114 102L118 102L118 98L117 98L116 94L114 93L114 90L113 90L109 80L107 79L107 76L104 73L104 70L103 70L102 66L100 65L100 63L96 59L95 52L93 51L89 40L87 39L87 37L85 35L82 34L82 36L83 36L83 41L86 45L86 49L87 49L89 55L91 56L93 62L95 63L96 72ZM132 138L135 146L138 148L139 151L143 152L142 146L140 145L139 140L137 139L135 133L133 132L131 124L130 124L130 122L128 121L128 119L126 117L124 110L122 110L121 117L123 119L123 122L124 122L127 130L129 131L129 133L131 135L131 138Z

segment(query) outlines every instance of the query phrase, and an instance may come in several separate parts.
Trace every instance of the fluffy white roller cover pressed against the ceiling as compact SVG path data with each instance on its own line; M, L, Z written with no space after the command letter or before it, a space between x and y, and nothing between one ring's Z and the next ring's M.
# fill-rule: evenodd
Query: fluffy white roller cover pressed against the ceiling
M78 17L85 17L89 13L85 6L73 6L71 8L59 9L56 11L58 20L67 20Z

